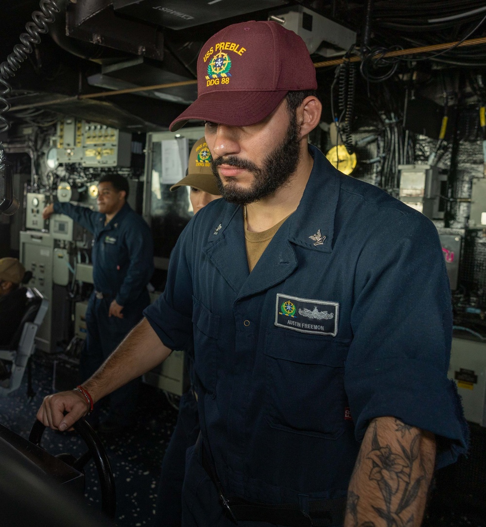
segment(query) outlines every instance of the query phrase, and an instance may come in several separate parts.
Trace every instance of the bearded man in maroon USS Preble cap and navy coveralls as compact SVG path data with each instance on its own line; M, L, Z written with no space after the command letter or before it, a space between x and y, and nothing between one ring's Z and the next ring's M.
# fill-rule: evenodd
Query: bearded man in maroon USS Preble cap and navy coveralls
M436 229L308 145L316 87L304 42L275 22L203 45L198 99L171 129L206 121L229 203L191 219L163 296L83 384L98 401L193 340L184 527L419 527L434 467L468 446ZM87 411L64 392L37 417L64 430Z

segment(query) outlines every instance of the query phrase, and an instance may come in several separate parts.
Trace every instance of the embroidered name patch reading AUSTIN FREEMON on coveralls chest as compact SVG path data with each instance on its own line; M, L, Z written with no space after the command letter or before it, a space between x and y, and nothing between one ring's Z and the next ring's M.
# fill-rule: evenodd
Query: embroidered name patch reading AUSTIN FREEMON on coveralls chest
M338 302L277 293L275 325L313 335L337 335Z

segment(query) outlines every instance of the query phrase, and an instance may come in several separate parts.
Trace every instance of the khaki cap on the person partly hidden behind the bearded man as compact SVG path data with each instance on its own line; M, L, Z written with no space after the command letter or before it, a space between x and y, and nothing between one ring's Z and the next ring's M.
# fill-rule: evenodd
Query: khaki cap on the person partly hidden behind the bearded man
M170 190L177 190L178 187L194 187L195 189L208 192L214 196L220 196L220 191L216 184L216 176L211 170L211 153L205 138L199 139L192 147L189 154L187 175L177 183L173 184Z

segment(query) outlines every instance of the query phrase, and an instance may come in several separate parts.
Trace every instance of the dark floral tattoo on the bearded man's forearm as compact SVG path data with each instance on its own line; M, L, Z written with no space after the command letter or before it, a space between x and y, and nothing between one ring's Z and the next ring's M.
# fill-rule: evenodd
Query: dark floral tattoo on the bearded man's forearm
M376 420L370 424L373 427L371 450L368 452L365 450L359 457L353 479L367 476L370 481L370 494L375 496L375 499L370 501L370 506L376 514L376 518L372 519L386 527L411 527L415 521L413 512L415 509L412 505L416 502L417 496L426 494L429 477L421 457L421 433L399 419L395 419L394 424L394 431L402 440L405 438L403 442L397 439L395 441L397 446L394 449L389 444L380 444ZM363 473L363 470L366 472ZM358 475L357 472L361 474ZM374 485L377 489L372 488ZM346 504L346 525L375 527L375 522L369 521L370 518L359 523L359 518L363 517L359 513L359 501L366 500L366 497L364 493L363 496L358 495L351 490L352 488L356 491L357 488L362 487L354 484L350 486ZM373 492L377 490L379 491ZM376 496L379 496L378 501ZM380 518L383 523L378 521Z

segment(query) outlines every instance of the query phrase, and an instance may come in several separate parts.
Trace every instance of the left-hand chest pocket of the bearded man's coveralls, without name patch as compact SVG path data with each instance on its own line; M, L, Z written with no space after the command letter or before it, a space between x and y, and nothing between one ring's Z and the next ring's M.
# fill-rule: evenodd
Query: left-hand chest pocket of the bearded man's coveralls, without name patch
M195 342L194 365L200 382L210 394L216 392L220 316L211 313L192 297L192 324Z

